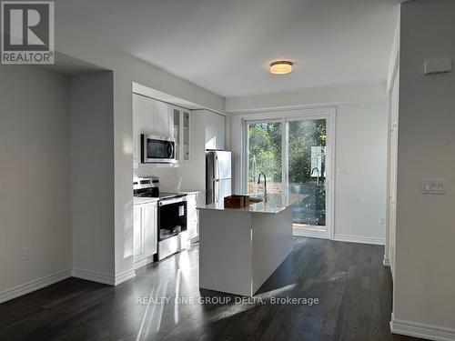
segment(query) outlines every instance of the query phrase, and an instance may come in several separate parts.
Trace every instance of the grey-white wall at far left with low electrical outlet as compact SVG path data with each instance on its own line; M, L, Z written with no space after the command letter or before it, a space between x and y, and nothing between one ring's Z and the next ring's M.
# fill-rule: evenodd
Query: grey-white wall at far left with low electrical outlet
M0 301L71 268L68 87L63 75L0 65Z

